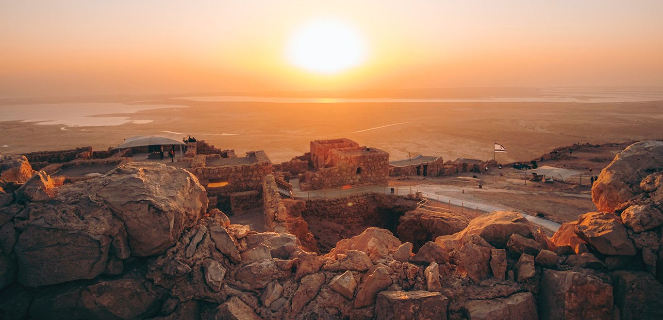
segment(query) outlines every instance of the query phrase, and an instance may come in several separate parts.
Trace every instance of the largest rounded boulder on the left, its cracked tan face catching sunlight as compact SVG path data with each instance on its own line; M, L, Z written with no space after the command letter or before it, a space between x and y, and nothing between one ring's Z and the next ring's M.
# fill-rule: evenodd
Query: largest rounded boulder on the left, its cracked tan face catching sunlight
M183 169L129 162L95 180L95 198L124 222L134 256L165 252L207 212L205 188Z

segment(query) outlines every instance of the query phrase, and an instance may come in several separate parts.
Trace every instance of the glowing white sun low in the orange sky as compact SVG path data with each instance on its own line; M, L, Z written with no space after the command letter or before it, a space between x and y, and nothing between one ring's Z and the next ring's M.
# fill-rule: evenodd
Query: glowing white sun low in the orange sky
M348 23L317 19L292 34L286 56L310 72L336 74L364 62L366 48L359 31Z

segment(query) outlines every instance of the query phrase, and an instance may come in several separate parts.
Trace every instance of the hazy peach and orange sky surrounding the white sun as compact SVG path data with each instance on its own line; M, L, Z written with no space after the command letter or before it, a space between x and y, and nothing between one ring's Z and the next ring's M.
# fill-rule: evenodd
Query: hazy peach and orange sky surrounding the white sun
M360 66L292 66L301 25L335 19ZM0 0L0 94L663 86L663 1Z

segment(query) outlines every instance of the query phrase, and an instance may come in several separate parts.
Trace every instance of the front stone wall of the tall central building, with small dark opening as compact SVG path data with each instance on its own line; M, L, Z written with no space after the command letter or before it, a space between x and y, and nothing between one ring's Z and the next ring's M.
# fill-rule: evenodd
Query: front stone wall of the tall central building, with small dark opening
M383 150L366 147L331 150L328 159L334 166L302 174L302 190L386 184L389 180L389 154Z

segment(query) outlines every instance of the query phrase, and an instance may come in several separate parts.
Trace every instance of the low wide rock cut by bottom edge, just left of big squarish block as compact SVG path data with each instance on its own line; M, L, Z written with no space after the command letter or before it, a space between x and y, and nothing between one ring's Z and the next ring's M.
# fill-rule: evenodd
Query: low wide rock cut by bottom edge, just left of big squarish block
M534 295L530 292L495 299L468 300L465 302L465 311L471 320L538 319Z

